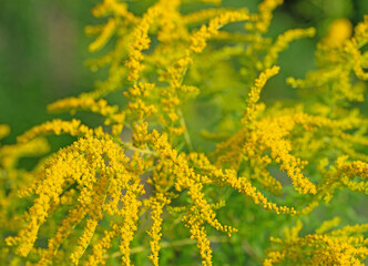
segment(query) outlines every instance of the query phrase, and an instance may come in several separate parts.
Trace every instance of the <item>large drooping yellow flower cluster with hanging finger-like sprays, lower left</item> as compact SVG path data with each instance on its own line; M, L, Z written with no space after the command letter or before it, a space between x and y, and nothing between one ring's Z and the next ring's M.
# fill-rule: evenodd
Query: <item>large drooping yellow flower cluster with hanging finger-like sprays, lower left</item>
M129 243L136 228L137 208L141 205L136 196L142 194L143 187L139 184L136 176L124 171L126 163L127 158L123 155L123 150L111 140L80 139L73 145L61 150L45 163L47 166L42 170L45 176L35 190L38 198L24 216L28 225L17 237L7 238L7 243L9 245L19 243L18 250L25 256L33 246L40 226L51 215L50 212L53 212L54 205L61 204L60 195L75 182L80 186L79 206L64 218L57 235L50 241L49 250L44 252L41 262L47 264L54 256L61 242L70 234L71 228L89 215L91 218L86 221L83 236L71 255L71 262L78 265L94 234L98 222L103 217L103 212L124 217L120 228L123 239L121 249L124 259L129 262ZM133 183L130 184L131 182ZM116 201L106 202L106 195L112 193L121 195L122 190L127 192L122 196L124 207L117 211ZM119 195L115 198L119 200Z

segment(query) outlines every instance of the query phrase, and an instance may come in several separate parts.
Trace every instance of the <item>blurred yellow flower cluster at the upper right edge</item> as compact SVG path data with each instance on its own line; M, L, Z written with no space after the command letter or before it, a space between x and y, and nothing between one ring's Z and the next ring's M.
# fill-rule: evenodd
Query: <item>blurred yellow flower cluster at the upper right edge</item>
M319 69L308 72L305 80L289 78L288 83L294 88L319 89L315 90L315 93L319 93L328 103L336 106L340 106L345 100L364 101L364 84L354 82L351 75L355 74L364 81L368 79L364 71L367 51L360 51L367 43L367 16L365 21L356 25L352 38L350 27L350 22L345 19L336 20L330 25L327 38L317 47Z

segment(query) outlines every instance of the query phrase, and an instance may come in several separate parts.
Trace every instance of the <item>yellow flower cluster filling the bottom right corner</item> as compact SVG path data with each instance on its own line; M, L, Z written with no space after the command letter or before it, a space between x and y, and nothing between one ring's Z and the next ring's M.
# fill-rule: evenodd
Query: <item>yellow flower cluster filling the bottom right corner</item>
M328 222L330 227L336 219ZM325 226L325 224L323 225ZM294 234L286 234L285 239L272 238L274 248L267 254L264 266L298 264L298 265L364 265L361 259L368 256L368 242L361 234L368 229L368 224L350 226L325 233L309 234L299 237L299 222ZM318 229L317 229L318 231ZM288 233L288 232L287 232Z

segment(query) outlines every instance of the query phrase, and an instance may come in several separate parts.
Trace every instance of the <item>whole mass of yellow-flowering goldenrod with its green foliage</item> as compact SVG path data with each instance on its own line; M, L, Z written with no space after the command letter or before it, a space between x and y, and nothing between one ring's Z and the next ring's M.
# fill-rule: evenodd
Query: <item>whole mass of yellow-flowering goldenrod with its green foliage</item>
M100 55L86 65L108 78L48 111L103 124L55 119L0 147L1 265L365 265L367 217L344 224L354 211L341 203L368 194L368 117L354 105L365 101L368 16L354 29L334 21L317 68L287 79L300 99L266 105L279 53L316 33L267 35L282 3L93 8L101 24L85 32ZM213 125L191 130L198 115ZM9 131L1 125L0 137ZM73 142L50 152L61 134ZM22 168L30 156L38 164ZM318 216L334 206L339 217Z

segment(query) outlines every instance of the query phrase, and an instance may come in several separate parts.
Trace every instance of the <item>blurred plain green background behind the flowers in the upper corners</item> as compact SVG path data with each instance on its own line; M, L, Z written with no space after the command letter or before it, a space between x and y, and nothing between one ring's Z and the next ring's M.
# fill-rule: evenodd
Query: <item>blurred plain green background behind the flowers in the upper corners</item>
M92 73L83 62L91 57L86 47L91 39L84 35L86 24L101 23L90 13L98 0L27 1L2 0L0 8L0 123L11 126L11 143L16 135L32 125L55 115L45 106L57 99L89 91L101 73ZM131 1L134 2L137 1ZM143 6L149 6L150 1ZM226 7L248 7L255 11L257 0L224 0ZM211 6L211 4L208 4ZM143 10L137 10L143 11ZM348 18L352 24L368 13L364 0L285 0L277 8L270 35L286 29L316 27L317 37L292 43L280 54L282 73L267 86L263 100L295 98L296 92L286 86L285 78L303 78L314 68L316 42L326 33L336 18ZM368 113L366 103L358 104Z

